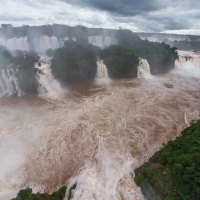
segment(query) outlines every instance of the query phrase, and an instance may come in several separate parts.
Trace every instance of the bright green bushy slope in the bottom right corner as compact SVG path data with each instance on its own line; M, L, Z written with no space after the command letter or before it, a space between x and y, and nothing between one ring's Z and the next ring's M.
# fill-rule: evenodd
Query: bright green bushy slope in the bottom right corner
M136 170L147 200L200 199L200 120Z

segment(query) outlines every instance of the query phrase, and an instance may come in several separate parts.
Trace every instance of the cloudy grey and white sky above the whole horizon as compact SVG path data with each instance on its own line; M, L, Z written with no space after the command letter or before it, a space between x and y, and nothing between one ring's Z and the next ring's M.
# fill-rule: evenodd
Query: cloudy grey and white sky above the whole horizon
M200 34L199 0L0 0L0 23Z

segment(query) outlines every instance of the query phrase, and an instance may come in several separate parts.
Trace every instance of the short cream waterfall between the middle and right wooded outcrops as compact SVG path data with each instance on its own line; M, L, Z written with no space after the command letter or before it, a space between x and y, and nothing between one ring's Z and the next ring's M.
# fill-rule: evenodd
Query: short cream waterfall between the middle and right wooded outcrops
M149 79L152 77L150 66L146 59L140 58L137 70L138 70L137 73L138 78Z

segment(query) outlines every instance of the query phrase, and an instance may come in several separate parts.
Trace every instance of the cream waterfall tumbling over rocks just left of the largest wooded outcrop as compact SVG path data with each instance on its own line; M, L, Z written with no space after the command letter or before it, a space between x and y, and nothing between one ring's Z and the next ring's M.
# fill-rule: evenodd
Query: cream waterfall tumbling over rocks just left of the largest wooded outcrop
M42 97L59 98L63 95L60 83L54 78L51 71L50 58L41 57L35 64L36 78L39 83L38 92Z

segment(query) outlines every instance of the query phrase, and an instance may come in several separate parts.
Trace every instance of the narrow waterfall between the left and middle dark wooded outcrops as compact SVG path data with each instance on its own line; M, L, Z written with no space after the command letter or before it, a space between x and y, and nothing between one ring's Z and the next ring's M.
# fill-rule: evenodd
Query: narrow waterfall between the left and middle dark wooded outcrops
M97 61L97 75L96 75L96 83L98 85L109 84L111 82L108 70L103 60Z

